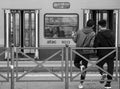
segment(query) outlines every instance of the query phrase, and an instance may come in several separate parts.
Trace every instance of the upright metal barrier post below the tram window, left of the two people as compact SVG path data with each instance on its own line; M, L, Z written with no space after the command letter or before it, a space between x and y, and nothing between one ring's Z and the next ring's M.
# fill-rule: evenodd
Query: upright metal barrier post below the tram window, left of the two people
M69 89L69 79L68 79L68 45L65 46L65 89Z

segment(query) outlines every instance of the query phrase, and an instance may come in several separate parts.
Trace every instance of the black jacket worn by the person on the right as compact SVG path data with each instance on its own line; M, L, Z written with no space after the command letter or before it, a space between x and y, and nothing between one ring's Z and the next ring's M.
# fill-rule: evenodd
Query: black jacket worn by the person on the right
M115 36L111 30L106 29L98 32L94 40L94 47L114 47L114 46ZM103 57L111 51L112 49L98 49L97 56Z

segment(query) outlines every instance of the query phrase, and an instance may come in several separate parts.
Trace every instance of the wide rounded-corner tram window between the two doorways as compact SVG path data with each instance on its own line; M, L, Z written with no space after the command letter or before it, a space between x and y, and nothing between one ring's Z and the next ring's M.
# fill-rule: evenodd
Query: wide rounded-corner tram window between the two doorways
M45 38L71 38L78 28L77 14L45 14Z

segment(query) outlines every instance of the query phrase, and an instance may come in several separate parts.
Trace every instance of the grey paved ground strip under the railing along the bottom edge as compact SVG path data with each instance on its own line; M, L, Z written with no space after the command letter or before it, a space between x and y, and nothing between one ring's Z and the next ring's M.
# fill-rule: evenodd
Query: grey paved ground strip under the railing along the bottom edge
M78 82L70 82L69 89L78 89ZM112 89L120 89L118 82L112 82ZM9 83L0 83L0 89L11 89ZM14 89L65 89L63 82L18 82ZM99 82L85 82L84 89L104 89Z

